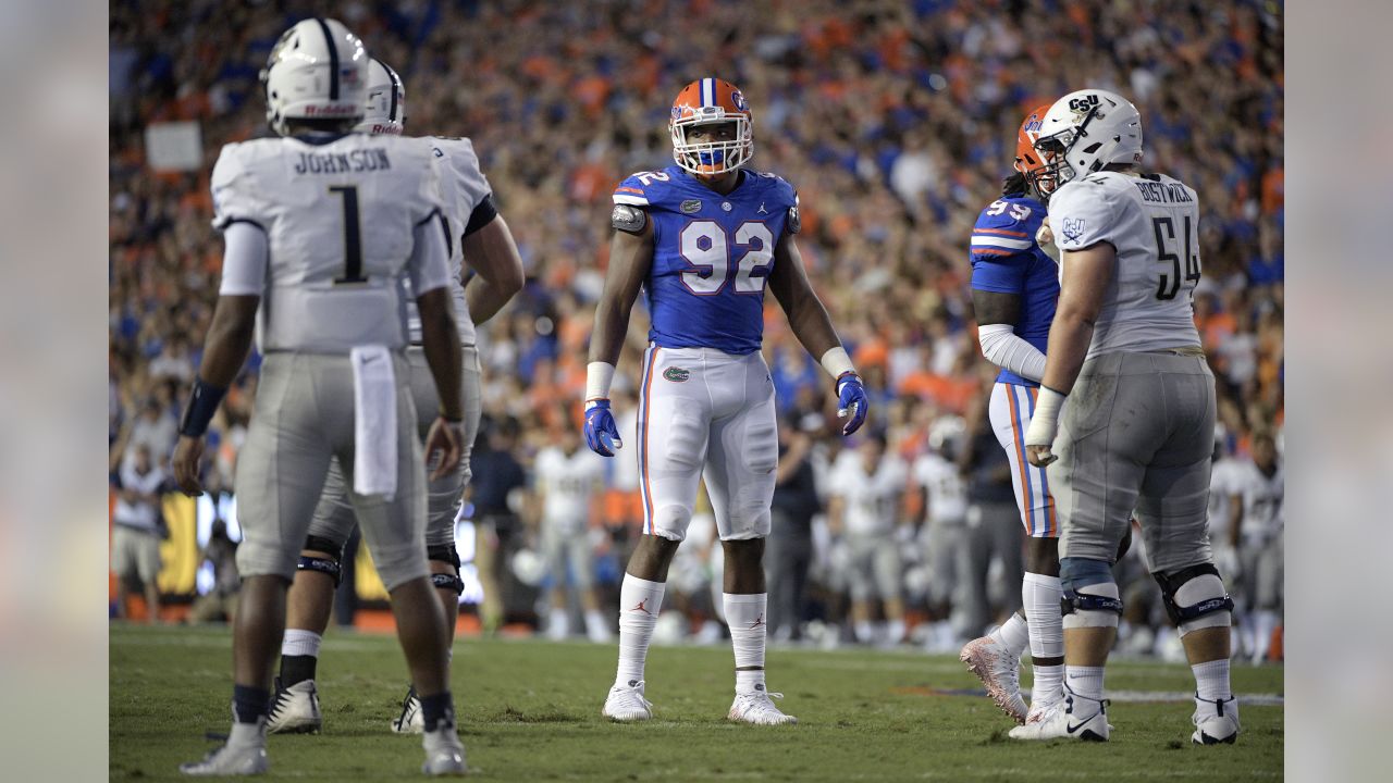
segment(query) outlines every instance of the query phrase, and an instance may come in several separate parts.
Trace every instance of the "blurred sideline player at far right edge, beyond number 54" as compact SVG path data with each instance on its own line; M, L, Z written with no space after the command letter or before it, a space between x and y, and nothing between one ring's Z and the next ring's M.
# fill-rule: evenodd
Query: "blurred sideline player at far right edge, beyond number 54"
M1286 527L1282 513L1284 476L1272 433L1252 436L1252 458L1238 463L1234 474L1227 532L1243 564L1234 592L1243 612L1245 646L1252 662L1262 663L1282 617L1282 534Z

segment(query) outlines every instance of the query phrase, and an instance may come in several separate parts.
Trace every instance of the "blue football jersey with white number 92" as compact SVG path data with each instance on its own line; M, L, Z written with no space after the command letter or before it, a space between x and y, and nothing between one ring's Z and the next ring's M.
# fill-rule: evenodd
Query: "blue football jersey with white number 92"
M797 231L793 185L741 170L736 189L720 195L669 166L620 183L614 203L639 206L653 222L653 266L644 283L648 339L664 348L758 351L775 245L790 220Z

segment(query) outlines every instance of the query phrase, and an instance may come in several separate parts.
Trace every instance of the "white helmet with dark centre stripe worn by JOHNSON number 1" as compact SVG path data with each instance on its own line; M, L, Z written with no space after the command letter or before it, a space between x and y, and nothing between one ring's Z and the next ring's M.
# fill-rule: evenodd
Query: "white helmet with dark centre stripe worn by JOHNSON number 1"
M288 120L357 123L368 88L368 50L338 20L304 20L281 33L260 81L266 123L280 135L287 135Z

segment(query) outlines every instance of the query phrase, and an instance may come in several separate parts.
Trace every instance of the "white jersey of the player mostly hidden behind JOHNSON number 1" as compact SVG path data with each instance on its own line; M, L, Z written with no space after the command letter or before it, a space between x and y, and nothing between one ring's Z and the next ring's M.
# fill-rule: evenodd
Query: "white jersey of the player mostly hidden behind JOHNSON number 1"
M464 298L464 252L461 238L469 224L474 209L483 203L492 192L489 180L479 169L479 156L474 153L474 142L467 138L425 137L421 141L430 145L430 153L440 167L440 196L444 199L446 242L450 248L450 297L454 300L454 316L460 326L460 343L475 344L474 320ZM407 329L411 344L421 344L421 315L417 312L417 298L407 286Z

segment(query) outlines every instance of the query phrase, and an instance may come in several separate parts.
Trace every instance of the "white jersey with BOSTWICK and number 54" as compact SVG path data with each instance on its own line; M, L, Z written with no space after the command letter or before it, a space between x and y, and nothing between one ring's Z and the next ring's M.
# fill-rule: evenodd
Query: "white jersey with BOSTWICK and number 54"
M1067 183L1049 202L1061 251L1107 242L1117 269L1103 294L1088 357L1199 346L1199 199L1178 180L1100 171ZM1060 262L1063 279L1067 256Z

